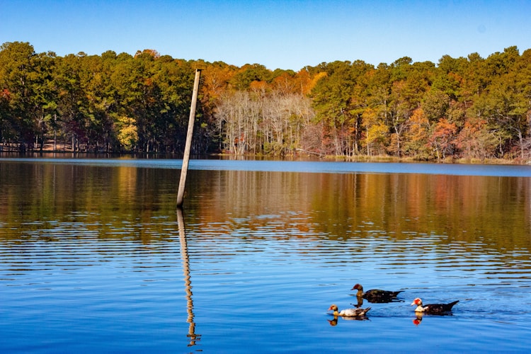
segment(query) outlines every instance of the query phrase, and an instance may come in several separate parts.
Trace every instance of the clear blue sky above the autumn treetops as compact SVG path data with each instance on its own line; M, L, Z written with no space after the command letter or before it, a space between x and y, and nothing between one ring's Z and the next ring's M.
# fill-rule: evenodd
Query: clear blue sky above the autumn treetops
M334 60L438 63L531 48L530 0L0 0L0 43L57 55L154 49L179 59L293 69Z

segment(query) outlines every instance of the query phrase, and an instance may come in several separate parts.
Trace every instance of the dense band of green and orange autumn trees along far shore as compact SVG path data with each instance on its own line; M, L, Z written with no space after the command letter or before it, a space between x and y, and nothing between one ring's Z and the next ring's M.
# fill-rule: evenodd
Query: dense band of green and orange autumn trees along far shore
M517 47L295 72L155 50L59 57L6 42L0 149L181 153L196 68L196 154L531 158L531 50Z

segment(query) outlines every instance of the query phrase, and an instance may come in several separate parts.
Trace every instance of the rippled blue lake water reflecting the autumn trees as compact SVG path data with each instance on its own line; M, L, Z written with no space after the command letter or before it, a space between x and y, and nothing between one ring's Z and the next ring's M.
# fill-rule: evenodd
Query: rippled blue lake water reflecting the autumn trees
M531 350L531 166L181 163L0 159L2 353Z

